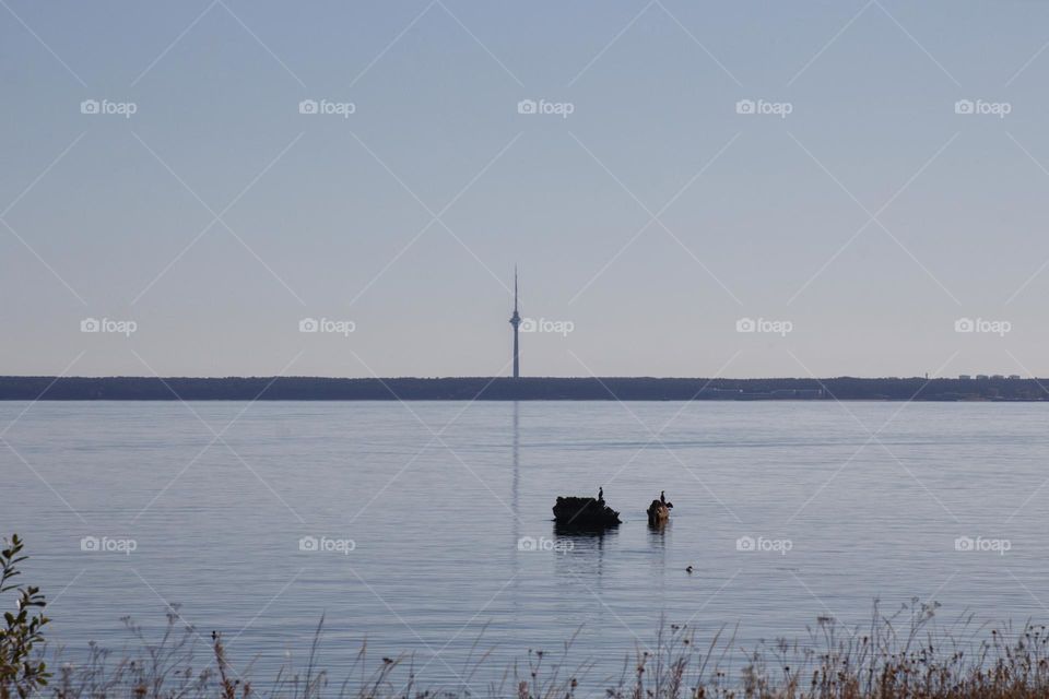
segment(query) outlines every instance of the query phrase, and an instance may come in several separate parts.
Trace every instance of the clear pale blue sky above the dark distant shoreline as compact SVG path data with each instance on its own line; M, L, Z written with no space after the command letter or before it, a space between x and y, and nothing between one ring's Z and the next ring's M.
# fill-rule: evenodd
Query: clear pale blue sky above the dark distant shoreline
M0 1L0 374L1049 376L1049 2Z

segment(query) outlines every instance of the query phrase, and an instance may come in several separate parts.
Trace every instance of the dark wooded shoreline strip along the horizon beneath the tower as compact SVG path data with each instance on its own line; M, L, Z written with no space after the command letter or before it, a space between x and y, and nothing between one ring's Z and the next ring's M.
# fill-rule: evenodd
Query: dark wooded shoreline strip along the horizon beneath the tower
M2 401L1046 401L1039 379L0 377Z

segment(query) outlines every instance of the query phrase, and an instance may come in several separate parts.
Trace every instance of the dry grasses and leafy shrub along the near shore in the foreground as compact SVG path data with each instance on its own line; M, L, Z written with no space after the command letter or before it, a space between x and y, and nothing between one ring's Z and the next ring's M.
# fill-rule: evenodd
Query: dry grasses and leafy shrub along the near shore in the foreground
M570 664L570 641L555 656L530 651L521 663L495 673L481 654L463 668L455 687L419 685L411 656L367 656L367 649L330 674L316 665L322 641L318 626L305 667L292 666L262 688L250 667L233 667L221 633L204 638L185 625L177 608L167 614L156 638L130 620L126 625L138 650L114 656L91 647L89 659L62 665L44 662L45 600L33 587L15 584L24 560L15 536L0 553L0 606L14 593L14 612L0 630L0 699L429 699L438 697L516 697L571 699L1028 699L1049 697L1049 633L1045 626L970 630L971 619L951 628L936 621L938 605L914 601L892 615L874 606L870 625L845 628L817 619L804 642L762 645L749 652L723 631L697 644L687 626L663 626L650 649L639 648L613 678L591 676L593 665ZM744 655L742 664L740 654ZM734 659L729 670L729 661Z

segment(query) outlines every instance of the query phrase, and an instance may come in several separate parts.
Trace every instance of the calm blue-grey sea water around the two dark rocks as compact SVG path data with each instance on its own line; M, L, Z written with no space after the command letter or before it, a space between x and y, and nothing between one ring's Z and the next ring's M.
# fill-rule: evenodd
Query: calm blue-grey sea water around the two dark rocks
M304 662L323 615L335 677L366 639L434 682L479 638L502 661L576 631L571 657L613 673L661 617L744 648L874 599L1049 617L1036 404L0 403L12 420L0 530L67 656L167 603L258 676ZM598 486L618 530L556 532L555 496Z

